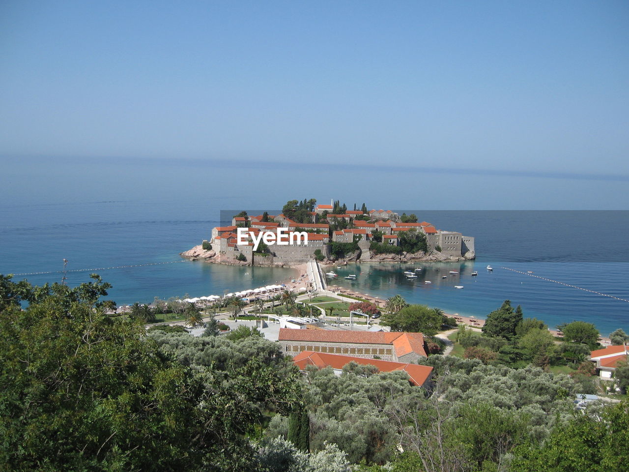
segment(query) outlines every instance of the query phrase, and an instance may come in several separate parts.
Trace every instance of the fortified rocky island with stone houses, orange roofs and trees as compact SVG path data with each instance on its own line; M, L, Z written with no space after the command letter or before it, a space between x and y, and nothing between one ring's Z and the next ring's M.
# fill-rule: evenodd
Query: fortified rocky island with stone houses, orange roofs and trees
M290 200L279 215L234 215L211 239L181 253L189 259L255 266L348 262L442 262L475 259L474 237L440 230L416 215L391 210L348 210L340 201Z

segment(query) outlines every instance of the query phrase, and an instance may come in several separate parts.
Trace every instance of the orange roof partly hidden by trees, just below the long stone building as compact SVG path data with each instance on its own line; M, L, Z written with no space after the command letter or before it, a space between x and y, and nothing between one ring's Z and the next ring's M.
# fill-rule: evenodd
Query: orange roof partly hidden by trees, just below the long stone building
M320 369L331 367L343 369L350 362L356 362L364 366L375 366L381 372L404 371L409 376L409 381L416 386L422 386L430 379L433 368L420 366L419 364L407 364L404 362L379 361L377 359L365 359L364 357L342 356L340 354L328 354L326 352L302 351L292 359L292 362L300 370L306 366L316 366Z

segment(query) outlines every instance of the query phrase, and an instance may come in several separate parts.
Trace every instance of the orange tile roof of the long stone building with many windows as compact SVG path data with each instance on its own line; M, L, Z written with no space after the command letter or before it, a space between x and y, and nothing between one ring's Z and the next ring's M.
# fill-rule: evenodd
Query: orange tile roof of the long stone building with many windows
M428 357L424 349L424 336L421 333L280 328L279 340L342 342L344 344L392 344L398 356L416 352L420 356Z

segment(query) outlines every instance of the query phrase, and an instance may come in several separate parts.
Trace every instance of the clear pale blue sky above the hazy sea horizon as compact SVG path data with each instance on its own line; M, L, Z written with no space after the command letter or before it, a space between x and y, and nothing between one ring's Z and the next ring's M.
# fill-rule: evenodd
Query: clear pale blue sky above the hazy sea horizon
M626 1L0 3L0 159L308 160L622 191L628 110Z

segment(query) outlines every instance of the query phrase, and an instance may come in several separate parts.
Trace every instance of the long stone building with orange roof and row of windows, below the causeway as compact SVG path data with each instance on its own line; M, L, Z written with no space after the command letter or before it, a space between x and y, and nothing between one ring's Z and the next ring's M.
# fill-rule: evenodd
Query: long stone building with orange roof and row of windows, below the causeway
M301 351L314 351L367 359L378 356L395 362L416 362L428 357L421 333L281 328L279 344L284 354L289 356L296 356Z

